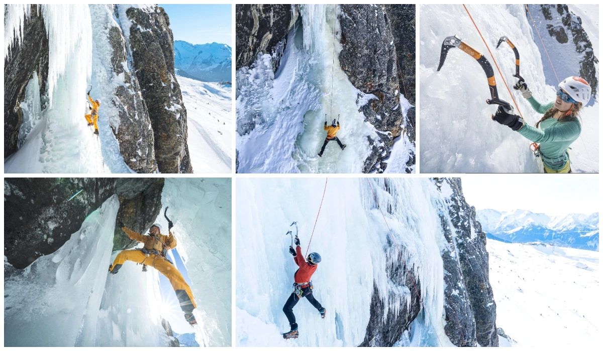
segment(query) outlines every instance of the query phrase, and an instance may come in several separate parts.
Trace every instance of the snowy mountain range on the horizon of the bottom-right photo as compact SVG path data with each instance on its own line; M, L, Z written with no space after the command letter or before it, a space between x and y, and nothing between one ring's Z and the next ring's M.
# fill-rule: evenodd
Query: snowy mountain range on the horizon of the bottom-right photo
M482 230L511 243L541 242L576 249L599 250L599 214L549 216L526 210L478 210Z

